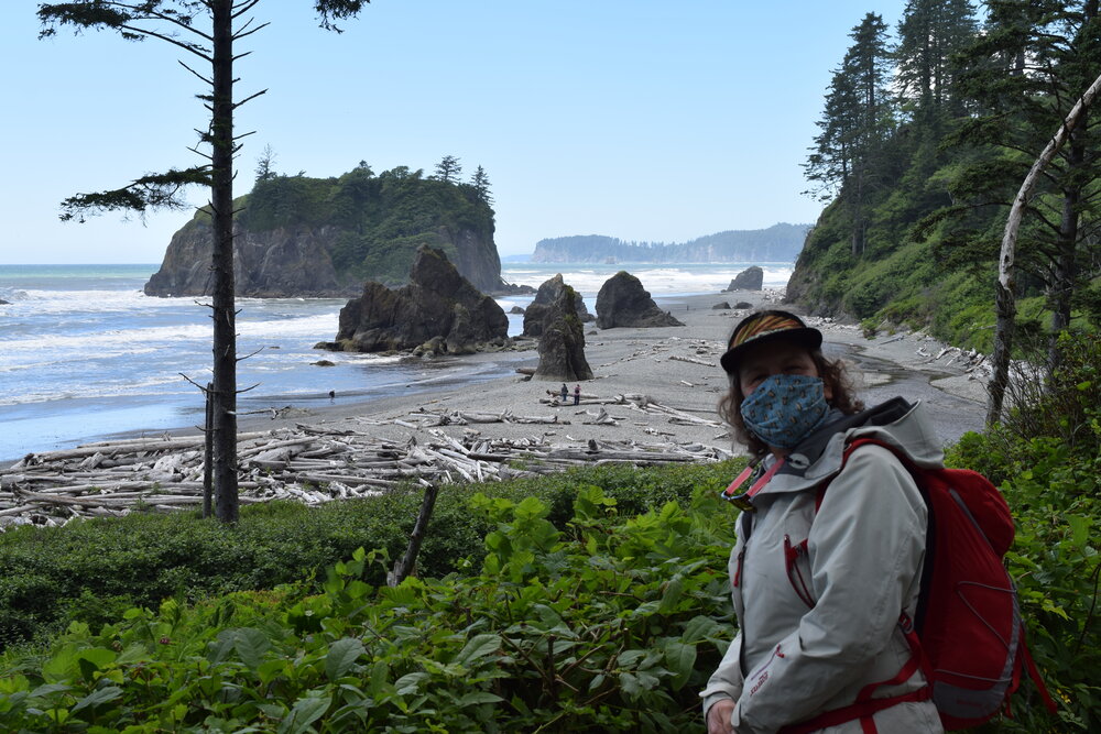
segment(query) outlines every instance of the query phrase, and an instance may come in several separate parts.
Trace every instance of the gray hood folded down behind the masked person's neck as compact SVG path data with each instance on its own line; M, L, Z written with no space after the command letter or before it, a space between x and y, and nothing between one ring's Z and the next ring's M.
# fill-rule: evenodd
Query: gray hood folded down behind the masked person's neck
M799 492L817 486L841 471L844 448L858 438L881 441L918 467L944 465L944 451L920 401L894 397L872 408L829 423L803 440L784 465L762 487L761 495Z

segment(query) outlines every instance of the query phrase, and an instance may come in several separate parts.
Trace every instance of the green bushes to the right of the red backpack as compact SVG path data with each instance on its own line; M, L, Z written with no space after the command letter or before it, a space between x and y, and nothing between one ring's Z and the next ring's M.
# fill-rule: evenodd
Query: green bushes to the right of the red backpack
M1007 732L1101 728L1101 342L1064 333L1059 350L1043 390L1018 384L1005 421L966 435L948 458L990 476L1013 510L1010 571L1029 647L1060 703L1058 730L1033 698L1014 706Z

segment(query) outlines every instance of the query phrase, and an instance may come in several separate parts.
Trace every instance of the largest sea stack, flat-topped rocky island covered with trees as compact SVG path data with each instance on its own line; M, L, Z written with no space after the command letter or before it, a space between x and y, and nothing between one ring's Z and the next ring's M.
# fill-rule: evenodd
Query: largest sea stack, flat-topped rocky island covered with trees
M438 167L425 177L404 166L375 176L366 163L335 178L263 171L237 206L241 296L357 295L369 280L399 285L422 244L443 250L479 289L503 287L484 176L467 184ZM173 235L145 293L207 293L210 242L200 210Z

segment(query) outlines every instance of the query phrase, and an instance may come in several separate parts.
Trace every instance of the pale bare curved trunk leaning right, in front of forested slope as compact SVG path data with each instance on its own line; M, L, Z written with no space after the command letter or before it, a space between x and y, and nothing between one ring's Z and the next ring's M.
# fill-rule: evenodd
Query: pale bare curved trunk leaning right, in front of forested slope
M1101 76L1093 80L1089 89L1081 99L1075 103L1073 109L1055 136L1048 142L1044 152L1039 154L1033 163L1028 175L1025 176L1017 191L1013 206L1010 208L1010 216L1005 220L1005 233L1002 235L1002 251L998 260L998 285L995 287L994 303L998 308L998 324L994 327L994 373L990 379L990 402L986 405L986 425L992 426L1001 418L1002 403L1005 399L1005 385L1010 374L1010 353L1013 349L1014 319L1017 314L1016 306L1016 283L1013 273L1013 259L1017 244L1017 231L1021 229L1021 219L1024 217L1025 207L1032 197L1033 187L1039 178L1040 172L1051 162L1062 143L1066 142L1070 131L1078 124L1079 118L1089 109L1101 89Z

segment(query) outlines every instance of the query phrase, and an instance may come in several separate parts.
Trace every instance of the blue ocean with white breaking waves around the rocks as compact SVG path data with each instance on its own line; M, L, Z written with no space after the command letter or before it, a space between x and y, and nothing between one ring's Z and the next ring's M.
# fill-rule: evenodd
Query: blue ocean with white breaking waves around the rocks
M654 299L717 293L750 265L765 287L784 286L792 263L652 265L505 263L510 283L538 287L562 273L596 313L611 275L636 275ZM198 427L201 393L188 380L210 380L211 326L203 298L152 298L142 287L156 270L134 265L0 265L0 461L31 451L69 448L117 435ZM508 313L532 296L499 298ZM337 298L239 298L240 414L284 406L324 406L338 398L369 401L512 374L532 352L503 352L471 364L461 359L402 363L394 357L315 350L337 332ZM509 333L523 317L509 316ZM320 368L318 360L335 362ZM186 379L185 379L186 376Z

